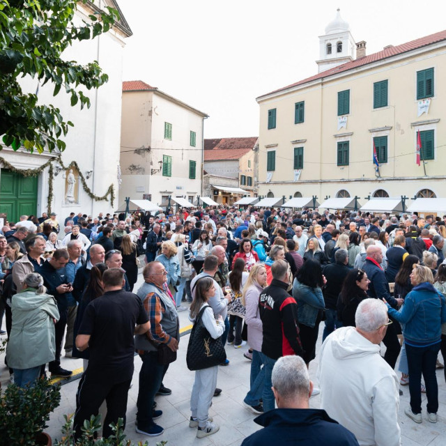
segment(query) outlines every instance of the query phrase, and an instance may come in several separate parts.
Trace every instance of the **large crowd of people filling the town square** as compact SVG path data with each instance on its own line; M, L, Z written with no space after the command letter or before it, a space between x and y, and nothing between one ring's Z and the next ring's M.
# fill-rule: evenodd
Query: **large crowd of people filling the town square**
M135 351L137 432L164 431L155 396L171 393L164 378L183 311L194 323L187 367L195 371L190 427L198 438L219 430L208 410L222 392L225 346L245 347L251 371L243 403L266 426L246 445L266 444L281 430L291 438L310 422L330 445L399 445L399 384L408 385L404 412L413 422L423 420L422 392L427 420L437 421L446 216L215 206L70 213L63 225L56 217L24 215L1 229L0 321L4 313L6 362L20 387L45 375L46 364L51 376L70 376L63 351L84 360L76 436L99 410L104 436L111 422L125 421ZM133 293L143 258L144 284ZM307 369L321 323L316 387ZM318 393L322 408L309 409ZM294 417L284 408L304 411Z

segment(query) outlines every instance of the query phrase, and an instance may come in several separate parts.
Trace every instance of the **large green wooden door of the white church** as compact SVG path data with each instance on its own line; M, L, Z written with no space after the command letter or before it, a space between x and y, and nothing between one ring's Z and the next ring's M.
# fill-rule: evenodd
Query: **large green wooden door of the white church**
M10 222L18 222L20 215L37 213L38 177L24 177L7 170L0 174L0 212Z

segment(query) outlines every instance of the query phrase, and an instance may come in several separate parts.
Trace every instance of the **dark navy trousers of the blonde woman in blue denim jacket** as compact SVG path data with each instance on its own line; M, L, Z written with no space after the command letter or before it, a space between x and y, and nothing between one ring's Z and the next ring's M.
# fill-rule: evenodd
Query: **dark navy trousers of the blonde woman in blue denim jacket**
M406 344L406 343L405 343ZM421 413L421 375L426 386L427 411L437 413L438 384L436 362L440 342L427 347L413 347L406 344L407 362L409 364L410 408L413 413Z

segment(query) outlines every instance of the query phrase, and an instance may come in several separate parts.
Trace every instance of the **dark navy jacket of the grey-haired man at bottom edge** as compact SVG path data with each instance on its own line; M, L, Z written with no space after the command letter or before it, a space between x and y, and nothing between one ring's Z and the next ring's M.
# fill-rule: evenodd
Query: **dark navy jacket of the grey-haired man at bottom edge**
M274 409L254 422L264 429L245 438L242 446L358 446L353 433L323 409Z

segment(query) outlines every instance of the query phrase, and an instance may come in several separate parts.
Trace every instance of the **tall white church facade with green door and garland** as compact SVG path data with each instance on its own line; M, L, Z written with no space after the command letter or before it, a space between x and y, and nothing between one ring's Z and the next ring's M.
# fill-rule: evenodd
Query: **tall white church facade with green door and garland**
M102 2L102 8L118 8L116 1ZM89 21L97 12L93 3L77 3L75 23ZM118 206L119 141L121 139L121 85L125 38L132 35L125 18L94 40L75 42L63 57L86 64L97 60L109 82L87 92L91 107L70 106L70 96L62 89L53 97L54 86L40 86L37 79L20 79L24 92L36 93L38 101L61 110L65 121L72 121L66 150L32 154L3 147L0 156L1 213L11 222L20 215L42 215L49 208L63 221L70 212L92 216L112 212ZM58 157L60 156L60 160ZM49 164L52 164L53 174ZM8 169L9 167L9 169ZM11 169L32 169L36 176L24 177ZM112 204L112 196L114 203ZM102 198L102 199L100 199Z

